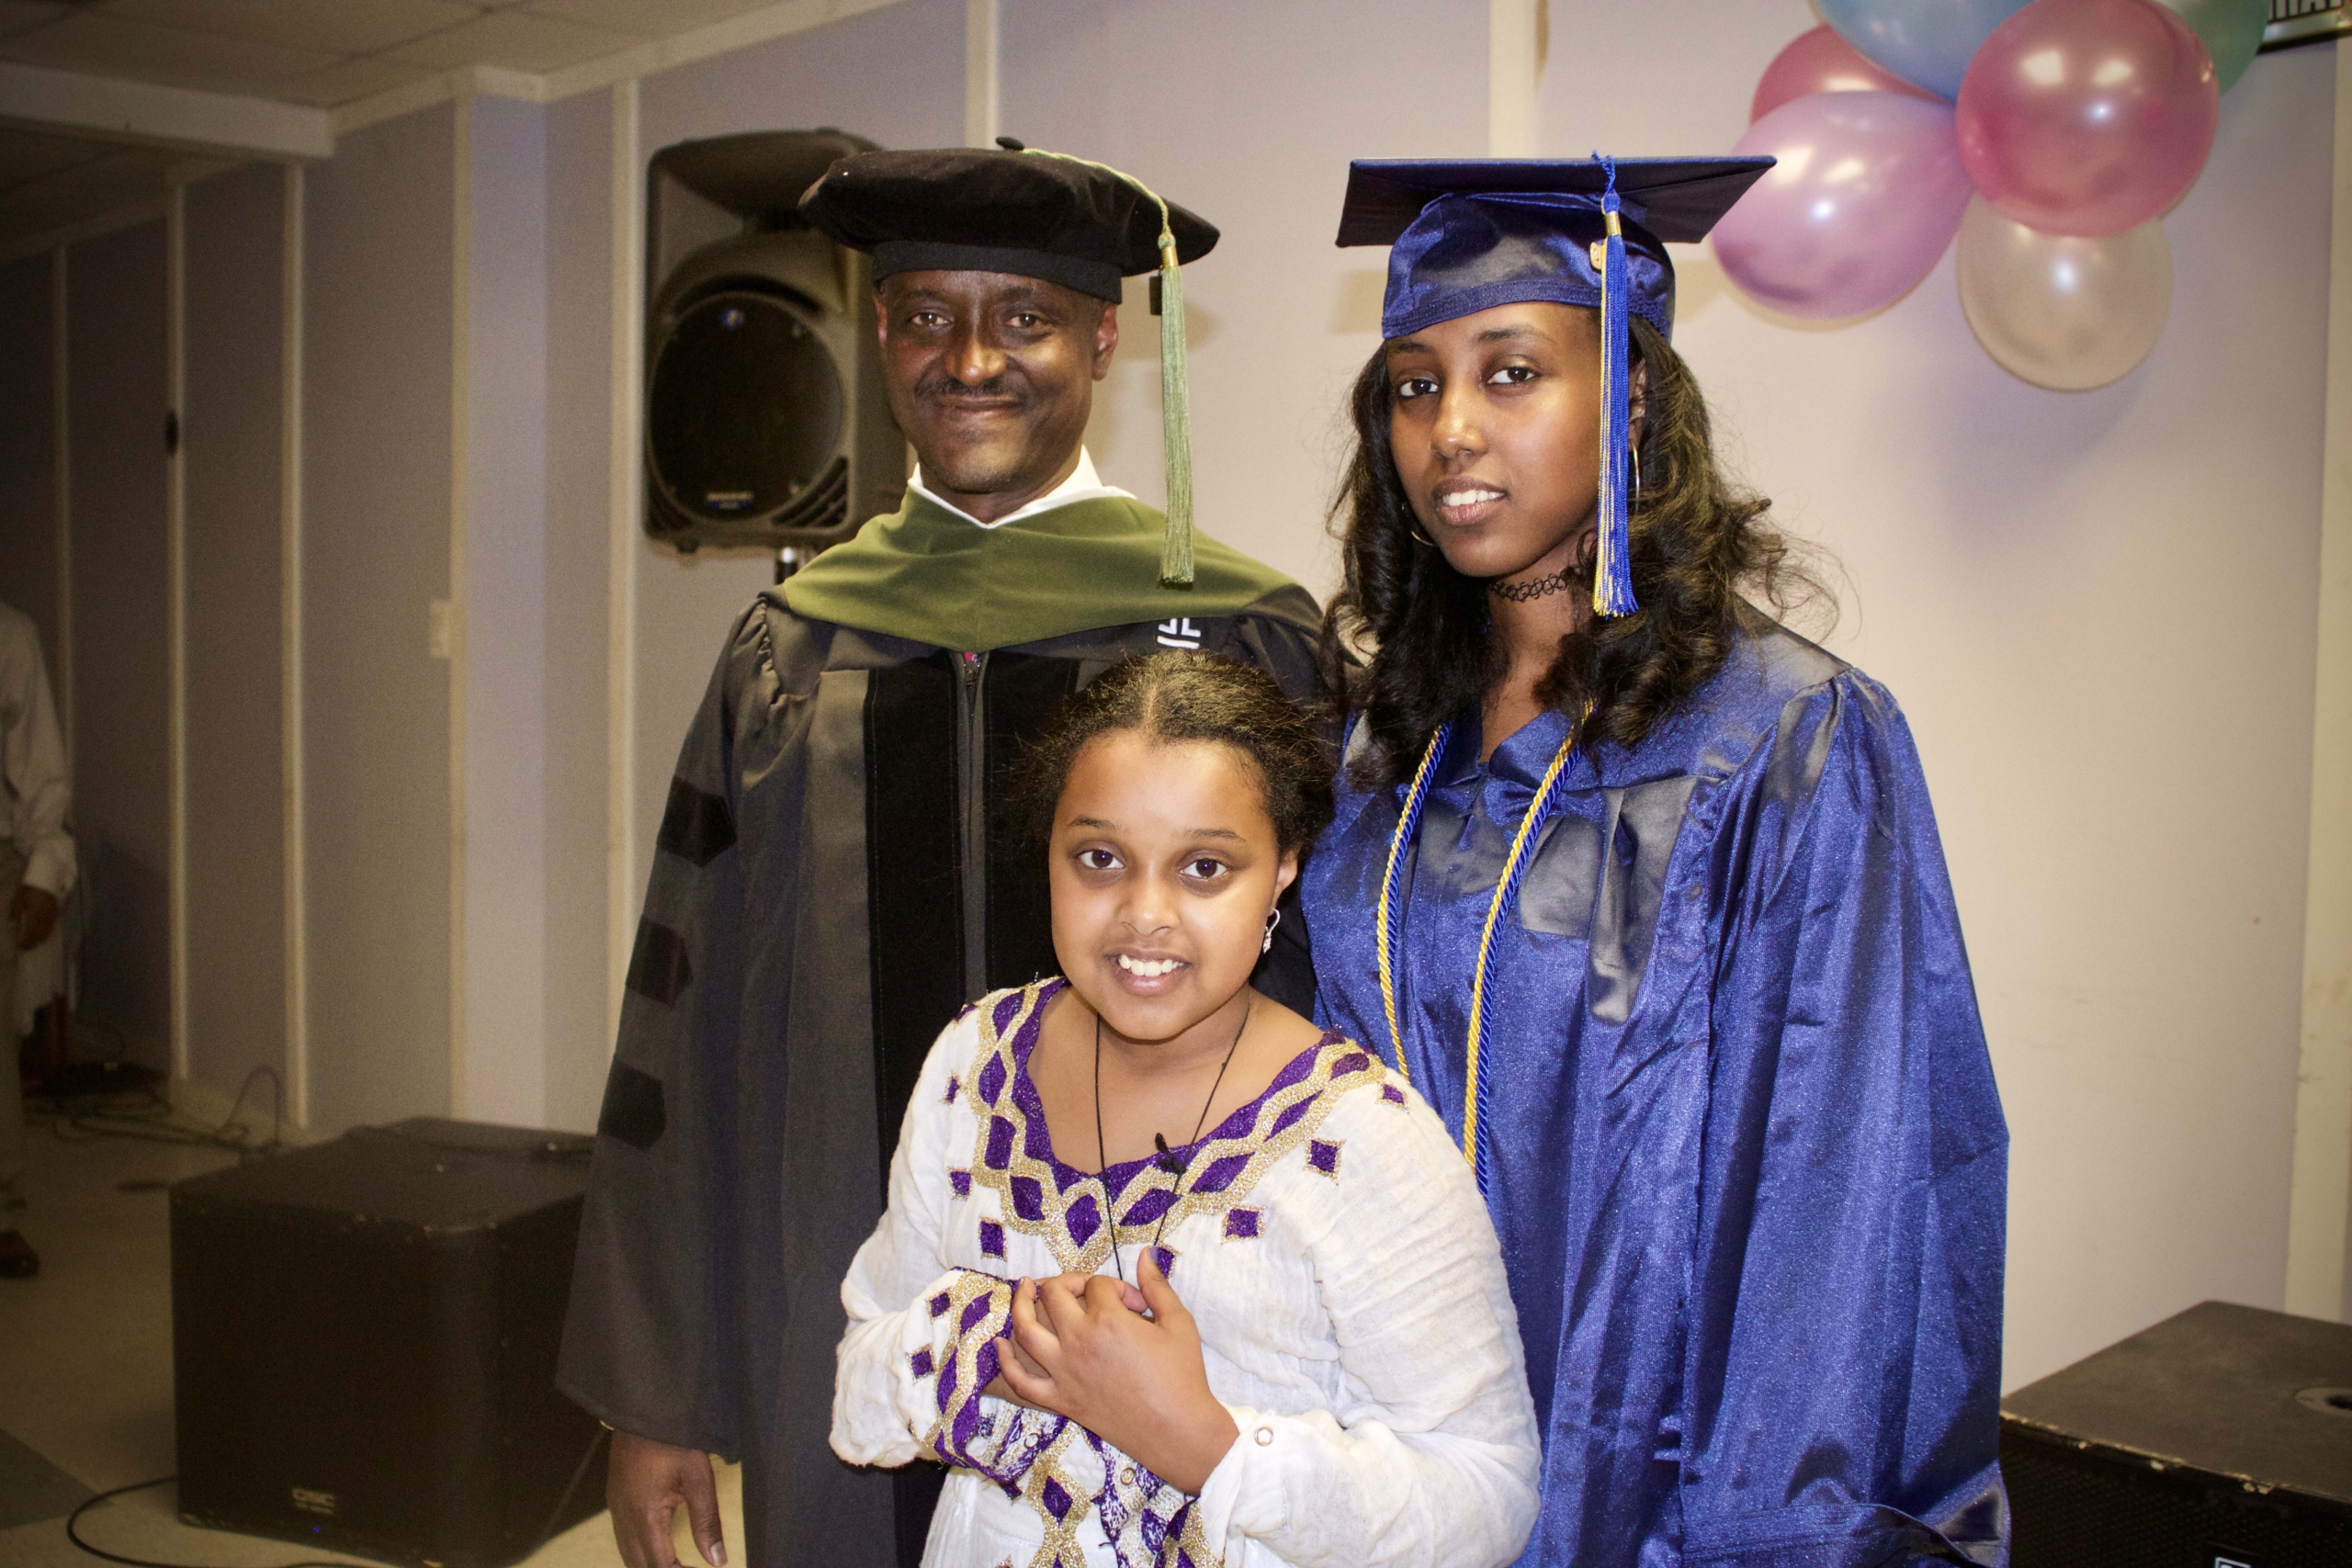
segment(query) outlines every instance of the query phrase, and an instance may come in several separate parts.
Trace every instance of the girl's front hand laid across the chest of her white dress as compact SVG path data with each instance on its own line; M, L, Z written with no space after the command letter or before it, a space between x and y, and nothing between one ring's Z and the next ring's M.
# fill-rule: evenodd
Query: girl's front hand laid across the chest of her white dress
M1129 1307L1138 1286L1150 1316ZM1023 1354L1000 1368L1014 1394L1068 1415L1178 1490L1200 1495L1240 1436L1209 1392L1200 1328L1148 1251L1134 1286L1101 1274L1084 1286L1068 1274L1016 1286L1014 1345Z

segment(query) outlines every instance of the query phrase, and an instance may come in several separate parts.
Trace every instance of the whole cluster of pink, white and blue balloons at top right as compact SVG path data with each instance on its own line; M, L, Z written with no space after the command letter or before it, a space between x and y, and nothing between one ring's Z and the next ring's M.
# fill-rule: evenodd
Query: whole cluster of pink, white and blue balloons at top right
M1715 228L1750 299L1842 320L1959 235L1959 303L2004 369L2065 393L2147 357L2161 216L2213 148L2270 0L1818 0L1757 82L1740 153L1778 167Z

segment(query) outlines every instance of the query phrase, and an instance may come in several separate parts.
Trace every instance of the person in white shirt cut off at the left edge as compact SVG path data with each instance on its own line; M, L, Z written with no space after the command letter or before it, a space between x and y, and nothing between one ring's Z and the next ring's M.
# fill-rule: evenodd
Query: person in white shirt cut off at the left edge
M0 929L0 1023L7 1025L7 1056L0 1060L0 1201L12 1211L16 1178L24 1175L16 1046L26 1034L28 1009L19 1001L19 969L56 936L59 905L73 891L73 835L66 832L73 788L66 780L66 748L56 733L40 632L31 616L7 604L0 604L0 790L7 806L0 818L0 905L7 907L7 926ZM35 1004L45 999L35 997ZM5 1213L0 1222L7 1222ZM40 1253L24 1234L14 1225L0 1229L0 1279L31 1279L38 1272Z

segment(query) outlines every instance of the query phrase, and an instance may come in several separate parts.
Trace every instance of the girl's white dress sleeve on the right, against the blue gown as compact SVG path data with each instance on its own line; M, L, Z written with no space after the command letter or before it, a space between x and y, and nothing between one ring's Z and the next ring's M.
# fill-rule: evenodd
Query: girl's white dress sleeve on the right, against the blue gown
M1200 1495L1228 1568L1496 1568L1536 1523L1536 1408L1503 1253L1470 1166L1418 1095L1352 1093L1310 1237L1348 1399L1232 1410L1240 1439Z

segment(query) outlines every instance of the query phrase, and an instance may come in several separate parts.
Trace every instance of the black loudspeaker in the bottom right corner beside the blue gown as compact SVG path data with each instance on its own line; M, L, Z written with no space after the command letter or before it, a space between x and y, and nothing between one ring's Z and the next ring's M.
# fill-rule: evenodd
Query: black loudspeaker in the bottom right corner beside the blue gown
M2352 1326L2204 1302L2002 1401L2013 1568L2352 1563Z

